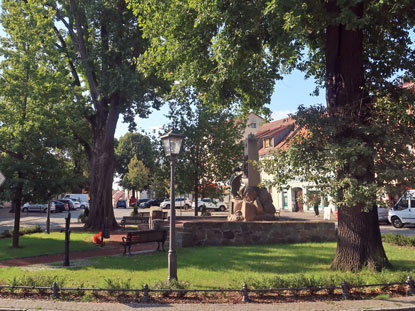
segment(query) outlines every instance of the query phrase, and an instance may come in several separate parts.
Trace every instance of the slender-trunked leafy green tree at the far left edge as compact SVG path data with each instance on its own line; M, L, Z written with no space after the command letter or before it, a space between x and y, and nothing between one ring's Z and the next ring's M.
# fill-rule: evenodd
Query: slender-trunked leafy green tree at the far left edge
M36 10L30 3L24 7ZM61 64L50 65L38 53L43 44L53 54L50 20L22 15L7 1L3 9L10 14L1 16L8 34L0 48L0 170L6 176L1 196L12 200L13 247L19 247L22 202L49 200L73 178L61 151L73 138L66 134L71 123L66 113L74 92L62 88L68 77Z

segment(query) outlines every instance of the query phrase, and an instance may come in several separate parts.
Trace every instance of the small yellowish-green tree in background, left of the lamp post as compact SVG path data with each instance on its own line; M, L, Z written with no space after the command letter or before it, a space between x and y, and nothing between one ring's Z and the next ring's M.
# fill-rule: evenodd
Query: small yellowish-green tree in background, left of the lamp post
M145 190L150 183L150 171L144 163L134 155L128 164L128 172L122 180L125 188L138 191Z

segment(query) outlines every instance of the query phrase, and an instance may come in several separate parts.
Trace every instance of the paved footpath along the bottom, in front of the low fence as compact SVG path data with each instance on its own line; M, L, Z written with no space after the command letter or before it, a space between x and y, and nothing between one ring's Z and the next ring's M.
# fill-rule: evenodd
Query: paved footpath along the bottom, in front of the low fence
M92 302L62 302L52 300L0 299L0 311L338 311L338 310L414 310L415 297L386 300L348 300L275 304L122 304Z

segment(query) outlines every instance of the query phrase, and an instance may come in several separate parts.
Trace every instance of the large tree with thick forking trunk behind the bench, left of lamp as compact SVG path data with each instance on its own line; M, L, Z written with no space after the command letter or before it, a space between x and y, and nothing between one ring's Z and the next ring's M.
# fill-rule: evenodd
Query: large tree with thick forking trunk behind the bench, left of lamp
M13 2L2 2L4 14L15 15L5 6ZM60 52L67 64L70 85L82 89L74 101L89 124L89 132L78 136L90 170L91 211L85 227L100 229L104 221L117 227L111 198L117 121L123 114L133 128L134 114L146 117L152 107L160 107L158 94L165 86L161 79L137 70L147 40L124 0L28 0L13 5L20 8L18 14L53 22L45 33L55 40L54 52ZM38 49L49 52L40 45ZM51 64L54 61L51 58Z

